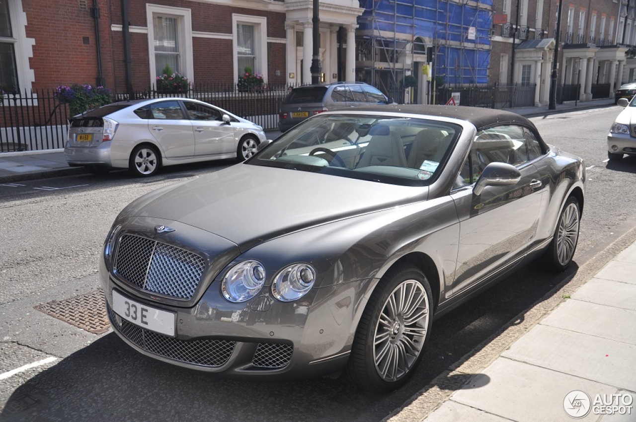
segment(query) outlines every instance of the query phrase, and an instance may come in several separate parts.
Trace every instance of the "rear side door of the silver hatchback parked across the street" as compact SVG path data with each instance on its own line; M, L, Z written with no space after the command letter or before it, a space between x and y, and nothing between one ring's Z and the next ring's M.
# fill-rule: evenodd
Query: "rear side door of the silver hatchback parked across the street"
M148 129L170 160L192 158L195 137L192 124L177 100L155 102L149 106Z

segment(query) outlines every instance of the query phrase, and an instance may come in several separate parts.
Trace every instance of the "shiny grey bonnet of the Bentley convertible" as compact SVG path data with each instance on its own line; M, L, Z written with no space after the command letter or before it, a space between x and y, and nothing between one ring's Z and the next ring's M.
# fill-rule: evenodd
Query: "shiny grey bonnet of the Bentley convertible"
M146 194L120 217L181 222L222 236L245 252L277 236L425 200L427 194L422 186L239 164Z

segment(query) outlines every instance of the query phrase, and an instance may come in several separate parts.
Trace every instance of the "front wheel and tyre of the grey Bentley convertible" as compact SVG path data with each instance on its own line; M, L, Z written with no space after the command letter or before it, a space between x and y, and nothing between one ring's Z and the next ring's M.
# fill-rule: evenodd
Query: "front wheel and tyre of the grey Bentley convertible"
M345 378L367 391L403 386L422 359L431 310L431 287L420 269L404 265L387 271L358 323Z

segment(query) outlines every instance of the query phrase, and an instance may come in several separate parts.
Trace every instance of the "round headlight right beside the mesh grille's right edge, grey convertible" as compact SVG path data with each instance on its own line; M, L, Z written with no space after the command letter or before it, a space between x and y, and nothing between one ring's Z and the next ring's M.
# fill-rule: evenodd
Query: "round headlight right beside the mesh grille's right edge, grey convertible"
M258 261L239 262L223 278L221 290L230 302L245 302L256 296L265 283L265 267Z

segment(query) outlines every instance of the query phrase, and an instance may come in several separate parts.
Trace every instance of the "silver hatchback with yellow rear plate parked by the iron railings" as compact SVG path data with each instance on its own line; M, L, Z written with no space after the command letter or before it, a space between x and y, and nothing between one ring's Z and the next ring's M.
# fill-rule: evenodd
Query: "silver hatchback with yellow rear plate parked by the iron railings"
M143 177L167 165L244 161L264 140L261 126L202 101L132 100L70 118L64 156L93 173L128 168Z

